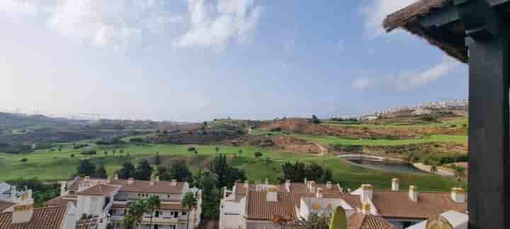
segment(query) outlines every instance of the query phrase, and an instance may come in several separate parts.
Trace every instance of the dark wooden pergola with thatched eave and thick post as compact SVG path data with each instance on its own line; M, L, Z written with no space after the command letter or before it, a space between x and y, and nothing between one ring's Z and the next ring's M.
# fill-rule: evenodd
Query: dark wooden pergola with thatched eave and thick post
M469 64L469 228L510 229L510 0L420 0L383 25Z

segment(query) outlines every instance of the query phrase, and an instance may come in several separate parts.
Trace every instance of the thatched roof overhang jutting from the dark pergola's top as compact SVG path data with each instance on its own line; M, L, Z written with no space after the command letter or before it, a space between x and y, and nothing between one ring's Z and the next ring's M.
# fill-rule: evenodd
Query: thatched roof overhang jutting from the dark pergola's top
M452 6L452 0L419 0L387 16L382 23L386 32L396 28L404 28L414 35L427 40L431 45L439 47L446 54L467 63L467 48L464 43L464 30L461 23L447 25L445 28L423 28L418 20L431 13Z

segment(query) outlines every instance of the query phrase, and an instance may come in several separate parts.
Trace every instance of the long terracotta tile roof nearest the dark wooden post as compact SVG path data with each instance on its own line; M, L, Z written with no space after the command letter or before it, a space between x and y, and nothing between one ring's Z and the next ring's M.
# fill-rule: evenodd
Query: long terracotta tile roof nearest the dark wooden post
M408 192L376 190L373 203L380 216L391 218L426 219L449 210L467 210L467 204L455 203L446 192L419 192L418 202L414 203Z

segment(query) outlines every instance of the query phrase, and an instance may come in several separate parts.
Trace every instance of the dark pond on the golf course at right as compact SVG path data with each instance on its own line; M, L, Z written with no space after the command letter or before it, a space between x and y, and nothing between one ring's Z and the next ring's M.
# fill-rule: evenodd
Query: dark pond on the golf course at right
M359 165L363 168L370 168L374 170L390 170L395 172L422 172L415 168L410 163L397 163L385 160L373 160L373 159L346 159L354 165Z

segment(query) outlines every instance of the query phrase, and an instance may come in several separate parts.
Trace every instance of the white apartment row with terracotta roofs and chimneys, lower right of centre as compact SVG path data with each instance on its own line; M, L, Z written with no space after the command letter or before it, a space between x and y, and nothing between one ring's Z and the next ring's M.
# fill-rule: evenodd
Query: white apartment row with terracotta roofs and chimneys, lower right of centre
M399 190L399 181L392 180L391 190L374 190L363 184L353 192L345 192L339 184L317 184L313 181L284 184L236 183L225 190L220 206L220 229L276 229L272 219L297 221L310 213L331 212L341 206L349 223L359 218L380 222L379 228L407 228L446 211L465 213L465 192L454 188L447 192ZM354 227L356 228L356 227Z

